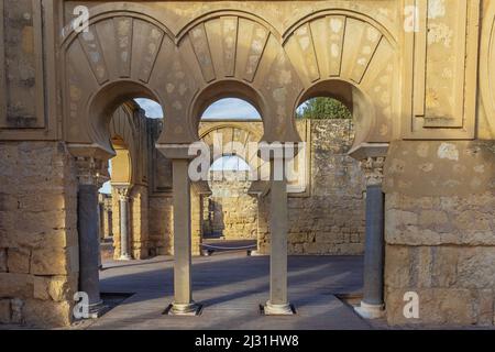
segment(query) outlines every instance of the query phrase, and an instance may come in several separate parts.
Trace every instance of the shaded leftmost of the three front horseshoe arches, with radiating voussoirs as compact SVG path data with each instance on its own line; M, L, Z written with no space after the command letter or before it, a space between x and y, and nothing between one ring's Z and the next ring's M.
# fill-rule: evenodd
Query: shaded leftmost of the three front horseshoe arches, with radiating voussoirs
M174 77L163 67L177 58L174 40L148 8L96 6L87 31L66 28L64 32L64 133L69 143L92 144L111 153L108 123L112 109L132 98L153 99L166 116L174 116L164 103L178 100L165 89Z

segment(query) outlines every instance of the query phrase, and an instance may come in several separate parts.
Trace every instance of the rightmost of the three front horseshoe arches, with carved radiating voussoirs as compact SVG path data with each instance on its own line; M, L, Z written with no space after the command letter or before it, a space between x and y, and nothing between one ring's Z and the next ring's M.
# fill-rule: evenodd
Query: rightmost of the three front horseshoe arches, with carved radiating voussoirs
M385 26L359 12L324 10L289 26L284 48L304 86L294 108L315 91L337 94L343 85L352 97L346 98L353 101L350 108L366 114L359 121L356 143L397 136L399 58Z

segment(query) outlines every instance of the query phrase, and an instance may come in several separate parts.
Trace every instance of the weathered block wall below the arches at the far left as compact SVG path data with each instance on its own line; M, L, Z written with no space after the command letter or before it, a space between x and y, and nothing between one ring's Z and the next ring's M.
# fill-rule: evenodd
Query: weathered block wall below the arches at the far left
M0 322L65 326L77 290L77 182L64 143L0 143Z

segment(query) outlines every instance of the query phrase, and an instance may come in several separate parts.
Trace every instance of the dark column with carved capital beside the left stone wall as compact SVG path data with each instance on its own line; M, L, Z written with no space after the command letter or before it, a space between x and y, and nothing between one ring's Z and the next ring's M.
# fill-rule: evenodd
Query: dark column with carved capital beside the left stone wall
M89 298L90 317L98 317L103 308L99 287L99 226L98 188L99 162L92 157L77 157L77 230L79 234L79 292Z

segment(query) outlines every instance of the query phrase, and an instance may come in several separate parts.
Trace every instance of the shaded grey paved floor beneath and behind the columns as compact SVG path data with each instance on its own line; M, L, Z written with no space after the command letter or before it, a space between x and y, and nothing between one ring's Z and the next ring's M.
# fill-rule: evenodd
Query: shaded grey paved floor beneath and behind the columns
M268 256L216 253L193 261L194 298L204 305L197 317L166 316L173 295L173 258L105 263L103 293L134 293L95 320L89 329L370 329L336 295L359 294L360 256L290 256L289 298L297 315L265 317Z

